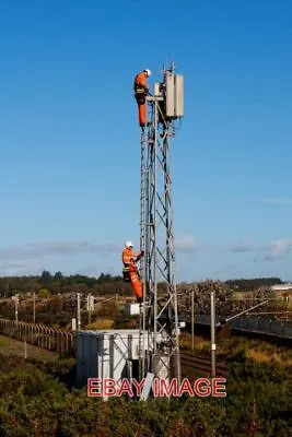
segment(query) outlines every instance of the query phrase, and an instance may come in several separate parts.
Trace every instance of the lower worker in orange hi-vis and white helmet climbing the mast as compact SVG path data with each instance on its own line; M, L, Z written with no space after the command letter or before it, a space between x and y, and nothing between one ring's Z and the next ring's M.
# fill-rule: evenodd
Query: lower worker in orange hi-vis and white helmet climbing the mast
M136 262L140 260L144 252L141 250L139 253L133 253L132 248L132 243L127 241L121 255L124 263L122 274L126 282L131 282L137 300L141 304L143 300L143 290Z

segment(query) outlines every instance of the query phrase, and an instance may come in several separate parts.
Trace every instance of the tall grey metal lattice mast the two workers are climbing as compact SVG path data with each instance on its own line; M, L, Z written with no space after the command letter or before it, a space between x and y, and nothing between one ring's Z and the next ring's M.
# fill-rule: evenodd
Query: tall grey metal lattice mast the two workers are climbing
M141 140L140 235L145 258L141 263L140 376L153 371L165 379L180 379L170 141L176 117L166 117L167 74L174 78L174 70L164 71L163 83L155 84L154 96L148 97L150 122ZM148 344L152 339L148 356L145 336Z

